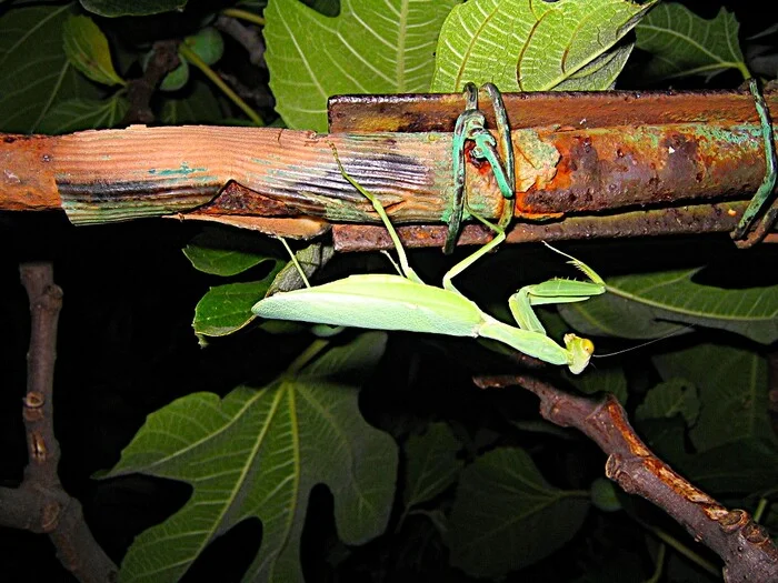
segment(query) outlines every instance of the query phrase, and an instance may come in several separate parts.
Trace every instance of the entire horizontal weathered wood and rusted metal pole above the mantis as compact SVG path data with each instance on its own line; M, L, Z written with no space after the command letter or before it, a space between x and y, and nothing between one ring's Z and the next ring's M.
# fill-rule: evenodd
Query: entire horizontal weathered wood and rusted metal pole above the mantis
M517 160L509 241L729 231L765 173L747 91L508 94ZM778 92L766 94L778 111ZM461 96L341 97L329 134L133 125L3 135L0 210L64 209L77 224L174 215L285 237L333 225L336 247L383 243L348 171L379 195L410 245L438 245L450 212L451 129ZM490 113L488 99L481 109ZM487 115L489 117L489 115ZM468 157L468 203L506 201ZM437 224L437 227L436 227ZM423 227L420 227L423 225ZM488 233L466 229L460 242Z

